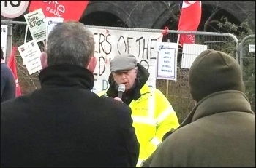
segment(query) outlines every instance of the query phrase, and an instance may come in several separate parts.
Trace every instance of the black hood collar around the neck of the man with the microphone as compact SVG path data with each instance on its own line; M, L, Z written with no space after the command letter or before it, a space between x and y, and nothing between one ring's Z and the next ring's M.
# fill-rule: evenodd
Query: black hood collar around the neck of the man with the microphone
M139 63L137 63L137 67L138 67L138 74L137 74L137 79L135 81L135 86L128 93L129 95L132 95L133 100L138 100L138 98L140 98L141 96L140 89L144 86L144 84L146 84L146 81L148 80L148 77L149 77L149 73L146 70L146 68L143 67L143 65L140 65ZM110 76L108 78L108 83L110 84L110 87L106 92L107 95L109 97L117 97L118 85L116 84L116 81L114 81L112 73L110 73ZM125 98L126 96L128 95L124 93L123 97Z

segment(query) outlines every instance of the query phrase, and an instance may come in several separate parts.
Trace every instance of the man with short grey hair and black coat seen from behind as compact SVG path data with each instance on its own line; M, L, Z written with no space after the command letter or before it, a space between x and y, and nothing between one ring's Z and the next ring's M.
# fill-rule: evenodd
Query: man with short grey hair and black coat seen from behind
M1 103L1 167L135 167L139 143L130 108L99 97L94 36L66 21L41 55L41 88Z

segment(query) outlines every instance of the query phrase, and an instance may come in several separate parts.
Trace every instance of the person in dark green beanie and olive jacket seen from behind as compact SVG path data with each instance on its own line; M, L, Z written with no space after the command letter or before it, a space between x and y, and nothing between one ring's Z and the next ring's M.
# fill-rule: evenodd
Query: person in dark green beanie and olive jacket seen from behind
M238 62L208 49L189 69L195 107L143 167L255 167L255 113Z

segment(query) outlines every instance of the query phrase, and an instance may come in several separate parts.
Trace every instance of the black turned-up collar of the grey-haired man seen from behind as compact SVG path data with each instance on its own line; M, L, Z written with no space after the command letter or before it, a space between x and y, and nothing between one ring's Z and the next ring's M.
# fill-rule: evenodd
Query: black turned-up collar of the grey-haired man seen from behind
M78 65L51 65L39 73L39 81L44 87L81 87L91 90L94 75Z

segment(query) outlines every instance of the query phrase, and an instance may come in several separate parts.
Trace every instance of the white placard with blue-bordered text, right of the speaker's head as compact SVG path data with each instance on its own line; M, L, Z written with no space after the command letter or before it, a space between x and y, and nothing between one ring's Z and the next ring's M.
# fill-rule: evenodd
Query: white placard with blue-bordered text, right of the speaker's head
M157 43L157 79L177 79L178 44L169 42Z

